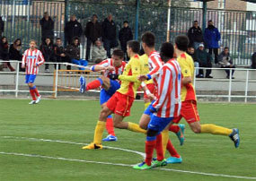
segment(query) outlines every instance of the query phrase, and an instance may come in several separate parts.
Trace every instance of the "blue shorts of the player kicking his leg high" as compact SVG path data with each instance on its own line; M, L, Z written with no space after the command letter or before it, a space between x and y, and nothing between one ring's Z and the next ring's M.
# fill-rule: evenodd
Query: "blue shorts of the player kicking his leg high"
M101 105L107 102L111 96L120 88L119 82L110 80L110 89L109 90L101 90L100 93L100 103Z

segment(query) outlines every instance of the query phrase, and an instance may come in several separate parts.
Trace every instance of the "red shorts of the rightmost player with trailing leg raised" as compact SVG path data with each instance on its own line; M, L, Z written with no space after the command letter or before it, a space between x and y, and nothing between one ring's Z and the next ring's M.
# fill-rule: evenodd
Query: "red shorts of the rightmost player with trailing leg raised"
M185 100L181 103L181 115L174 117L173 123L178 124L181 121L181 118L190 123L194 123L200 120L199 112L197 108L197 101L196 100Z

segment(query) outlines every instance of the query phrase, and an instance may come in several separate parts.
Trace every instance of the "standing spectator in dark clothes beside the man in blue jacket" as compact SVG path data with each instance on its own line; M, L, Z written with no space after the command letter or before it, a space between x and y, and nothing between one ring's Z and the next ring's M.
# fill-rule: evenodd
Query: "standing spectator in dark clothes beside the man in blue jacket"
M203 32L199 27L199 22L194 21L193 26L188 31L188 37L190 39L190 46L195 49L199 48L199 44L203 43Z

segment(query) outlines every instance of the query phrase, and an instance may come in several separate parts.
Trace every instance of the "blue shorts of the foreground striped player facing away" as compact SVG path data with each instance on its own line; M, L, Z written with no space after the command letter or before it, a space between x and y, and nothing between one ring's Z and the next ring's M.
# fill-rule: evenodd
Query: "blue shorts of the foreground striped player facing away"
M152 114L151 120L147 125L147 129L162 132L163 129L172 122L172 120L173 117L163 118Z

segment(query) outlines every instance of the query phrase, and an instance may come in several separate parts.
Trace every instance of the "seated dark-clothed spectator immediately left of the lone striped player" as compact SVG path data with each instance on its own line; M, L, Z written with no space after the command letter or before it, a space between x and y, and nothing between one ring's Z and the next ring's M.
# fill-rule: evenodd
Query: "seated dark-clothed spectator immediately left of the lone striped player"
M9 48L9 59L18 60L22 63L22 39L15 39L13 44ZM22 68L22 64L19 64L20 71L25 72L25 69Z

